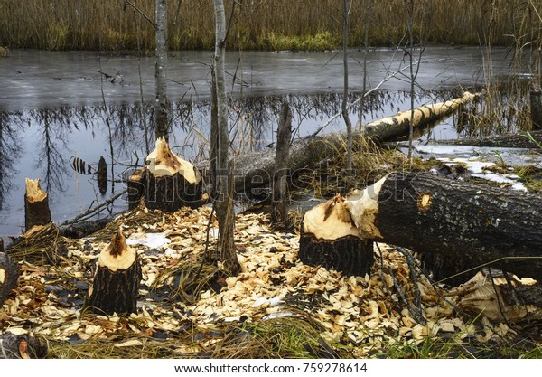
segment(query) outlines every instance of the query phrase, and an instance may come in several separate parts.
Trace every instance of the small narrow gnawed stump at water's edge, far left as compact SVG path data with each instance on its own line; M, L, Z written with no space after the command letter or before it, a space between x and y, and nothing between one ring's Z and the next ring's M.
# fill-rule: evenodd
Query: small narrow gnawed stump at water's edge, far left
M24 193L24 228L29 231L34 225L51 222L51 210L47 193L40 187L40 179L26 178Z

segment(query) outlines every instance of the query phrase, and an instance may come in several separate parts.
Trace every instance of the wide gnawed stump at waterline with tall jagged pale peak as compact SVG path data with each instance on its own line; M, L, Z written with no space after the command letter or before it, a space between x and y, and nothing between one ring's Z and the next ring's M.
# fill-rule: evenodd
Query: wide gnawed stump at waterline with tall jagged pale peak
M184 206L201 206L200 172L176 156L164 137L156 140L154 151L146 157L140 183L148 209L175 212Z

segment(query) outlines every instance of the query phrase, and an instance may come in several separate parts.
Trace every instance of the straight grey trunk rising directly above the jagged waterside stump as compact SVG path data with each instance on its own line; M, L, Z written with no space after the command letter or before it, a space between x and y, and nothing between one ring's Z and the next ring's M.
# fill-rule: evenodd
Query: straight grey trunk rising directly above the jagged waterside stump
M154 121L156 138L168 140L169 118L167 108L167 0L156 0L156 99L154 102Z

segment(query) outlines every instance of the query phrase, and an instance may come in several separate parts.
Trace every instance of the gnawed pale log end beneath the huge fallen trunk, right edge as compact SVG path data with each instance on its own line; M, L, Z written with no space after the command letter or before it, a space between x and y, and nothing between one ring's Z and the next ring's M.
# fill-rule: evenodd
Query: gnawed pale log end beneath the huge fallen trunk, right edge
M470 315L487 316L493 322L542 318L542 287L537 280L505 275L499 269L481 269L446 296L453 297L456 305Z

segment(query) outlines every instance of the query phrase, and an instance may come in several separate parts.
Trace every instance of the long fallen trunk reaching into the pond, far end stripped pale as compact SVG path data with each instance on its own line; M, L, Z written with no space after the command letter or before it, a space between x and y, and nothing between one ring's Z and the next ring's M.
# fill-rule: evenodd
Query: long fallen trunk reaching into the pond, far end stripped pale
M476 96L472 93L465 92L461 98L415 108L414 127L419 129L442 120L475 98ZM371 137L379 141L392 141L405 137L408 135L410 127L410 113L410 110L403 111L395 116L371 122L362 127L362 131L355 133L353 137ZM299 173L300 170L309 168L325 156L336 153L338 147L345 144L345 141L346 134L341 132L323 137L314 134L296 140L290 146L290 153L285 165L288 166L292 174ZM208 171L205 165L200 167L202 170ZM238 156L234 159L234 169L236 192L250 193L251 189L265 186L271 182L275 169L275 150L268 149L263 152Z

